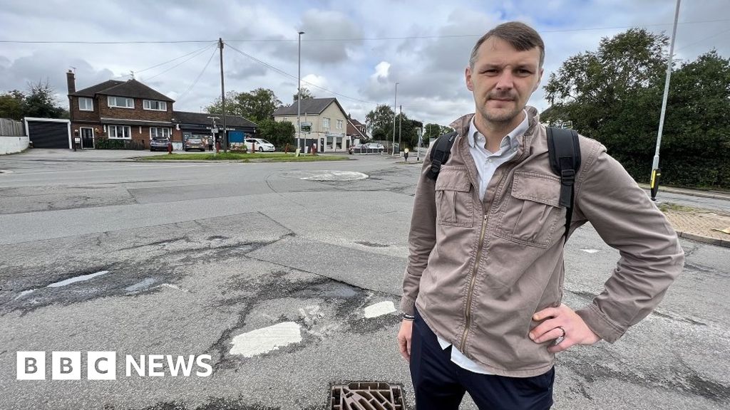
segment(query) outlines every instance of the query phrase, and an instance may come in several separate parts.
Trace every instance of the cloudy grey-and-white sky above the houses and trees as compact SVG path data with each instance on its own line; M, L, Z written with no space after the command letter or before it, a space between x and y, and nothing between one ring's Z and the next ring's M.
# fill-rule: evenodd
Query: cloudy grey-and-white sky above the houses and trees
M335 96L361 121L377 104L446 125L473 112L464 67L474 42L507 20L531 24L545 39L545 76L566 58L596 50L630 27L671 34L675 0L434 1L28 1L0 7L0 91L48 81L67 107L65 72L77 89L135 78L199 112L226 90L270 88L284 104L296 93L297 38L302 86ZM675 56L712 48L730 57L730 1L684 0ZM115 44L89 44L114 42ZM539 89L530 101L548 104Z

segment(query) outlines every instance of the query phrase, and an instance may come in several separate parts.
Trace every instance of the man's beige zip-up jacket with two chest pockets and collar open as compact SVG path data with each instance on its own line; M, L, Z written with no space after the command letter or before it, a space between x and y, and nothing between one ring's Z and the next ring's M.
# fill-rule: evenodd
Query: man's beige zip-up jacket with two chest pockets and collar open
M529 129L518 152L494 173L479 198L466 141L473 115L456 120L458 138L436 182L415 194L401 310L414 304L431 330L493 374L537 376L550 370L548 343L528 337L532 314L563 297L566 210L548 160L545 126L526 108ZM605 290L577 314L602 339L620 338L661 301L680 274L677 234L634 179L593 139L580 137L571 232L590 222L621 252Z

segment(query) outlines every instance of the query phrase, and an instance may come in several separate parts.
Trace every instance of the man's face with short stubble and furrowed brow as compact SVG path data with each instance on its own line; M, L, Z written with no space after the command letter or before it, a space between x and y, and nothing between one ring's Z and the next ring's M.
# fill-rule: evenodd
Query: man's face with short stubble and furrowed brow
M466 67L466 88L474 94L477 120L515 123L542 78L540 50L515 50L510 43L490 37L479 47L474 69Z

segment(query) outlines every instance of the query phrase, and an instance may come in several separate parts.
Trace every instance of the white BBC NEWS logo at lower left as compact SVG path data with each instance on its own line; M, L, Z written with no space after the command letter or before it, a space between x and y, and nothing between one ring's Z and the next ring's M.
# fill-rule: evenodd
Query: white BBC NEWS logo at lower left
M46 352L18 352L17 379L45 380ZM50 368L53 380L80 380L81 352L51 352ZM126 355L126 377L199 376L213 373L210 355ZM196 371L193 372L193 369ZM86 352L85 376L88 380L116 380L117 352Z

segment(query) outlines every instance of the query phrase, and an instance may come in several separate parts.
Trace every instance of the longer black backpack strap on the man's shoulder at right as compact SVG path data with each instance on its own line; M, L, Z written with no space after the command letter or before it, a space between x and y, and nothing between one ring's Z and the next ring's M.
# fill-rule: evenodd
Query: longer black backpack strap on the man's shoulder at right
M564 128L548 127L548 154L550 168L560 176L560 206L566 209L565 238L568 238L573 217L573 185L575 174L580 169L580 142L577 132Z

